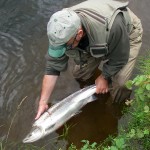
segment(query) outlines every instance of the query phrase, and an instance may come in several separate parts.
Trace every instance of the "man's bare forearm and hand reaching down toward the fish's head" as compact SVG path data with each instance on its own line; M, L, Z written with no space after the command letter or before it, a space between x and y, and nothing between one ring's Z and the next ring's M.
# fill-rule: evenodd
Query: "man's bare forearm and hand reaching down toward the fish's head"
M35 119L38 119L41 114L48 109L48 99L52 94L57 78L58 76L56 75L44 75L39 108Z

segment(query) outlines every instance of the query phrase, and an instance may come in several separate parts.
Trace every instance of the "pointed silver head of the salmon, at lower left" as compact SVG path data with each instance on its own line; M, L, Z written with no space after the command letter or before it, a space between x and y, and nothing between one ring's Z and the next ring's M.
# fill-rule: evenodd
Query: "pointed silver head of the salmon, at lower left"
M23 143L31 143L39 140L43 136L43 131L38 126L33 126L30 133L23 139Z

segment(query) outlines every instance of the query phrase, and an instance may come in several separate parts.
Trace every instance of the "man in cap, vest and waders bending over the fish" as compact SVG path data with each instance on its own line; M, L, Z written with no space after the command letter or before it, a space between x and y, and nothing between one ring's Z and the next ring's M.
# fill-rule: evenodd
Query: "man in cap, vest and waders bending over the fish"
M52 15L47 25L46 74L35 119L48 109L48 99L69 57L76 63L73 75L81 81L89 79L103 62L102 73L95 80L96 93L107 93L113 87L110 93L114 102L130 96L124 84L131 77L143 30L127 5L88 0Z

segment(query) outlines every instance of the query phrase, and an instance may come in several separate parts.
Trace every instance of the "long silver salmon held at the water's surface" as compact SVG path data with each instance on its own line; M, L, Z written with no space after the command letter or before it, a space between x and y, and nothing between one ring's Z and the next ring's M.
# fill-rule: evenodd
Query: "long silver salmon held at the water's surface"
M23 143L35 142L57 130L76 115L83 106L94 101L95 92L96 86L91 85L54 104L34 122L30 133L23 139Z

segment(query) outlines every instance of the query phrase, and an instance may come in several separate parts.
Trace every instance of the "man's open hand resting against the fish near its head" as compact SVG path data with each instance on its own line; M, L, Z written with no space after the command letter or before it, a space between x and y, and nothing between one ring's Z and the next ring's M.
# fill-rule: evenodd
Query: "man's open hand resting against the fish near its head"
M39 119L40 116L48 109L48 104L46 102L39 102L39 108L35 120Z

